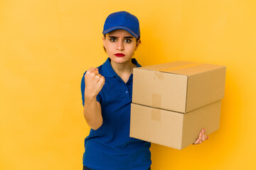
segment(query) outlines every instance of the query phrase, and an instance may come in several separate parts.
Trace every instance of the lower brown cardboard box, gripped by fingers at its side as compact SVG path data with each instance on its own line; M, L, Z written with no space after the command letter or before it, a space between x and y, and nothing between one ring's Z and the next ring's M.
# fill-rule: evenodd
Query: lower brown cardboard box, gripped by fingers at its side
M130 137L183 149L196 141L202 128L209 135L219 124L220 101L186 114L132 103Z

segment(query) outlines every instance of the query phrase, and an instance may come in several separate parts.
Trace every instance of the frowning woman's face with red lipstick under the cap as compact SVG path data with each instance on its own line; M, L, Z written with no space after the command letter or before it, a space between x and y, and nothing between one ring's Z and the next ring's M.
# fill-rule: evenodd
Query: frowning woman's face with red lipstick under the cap
M102 40L111 61L119 64L130 62L140 43L140 40L136 42L132 34L122 29L107 33Z

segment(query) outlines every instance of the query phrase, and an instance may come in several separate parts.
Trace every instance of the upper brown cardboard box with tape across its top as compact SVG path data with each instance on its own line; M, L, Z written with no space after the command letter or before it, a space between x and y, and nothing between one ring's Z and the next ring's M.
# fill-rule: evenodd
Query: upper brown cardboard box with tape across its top
M134 68L132 103L186 113L224 96L225 66L169 62Z

